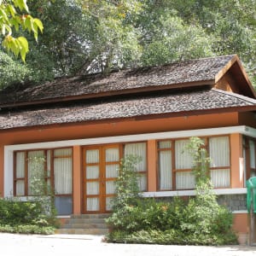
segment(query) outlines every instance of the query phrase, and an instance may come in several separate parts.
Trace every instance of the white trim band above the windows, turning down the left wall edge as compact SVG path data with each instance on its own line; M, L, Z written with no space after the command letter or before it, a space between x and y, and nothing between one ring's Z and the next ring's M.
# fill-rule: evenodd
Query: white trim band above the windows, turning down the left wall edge
M55 141L45 143L28 143L4 146L4 195L13 195L13 153L15 150L28 150L33 148L61 148L76 145L94 145L105 143L126 143L147 141L152 139L182 138L182 137L204 137L214 135L228 135L240 133L249 137L256 137L256 129L245 125L197 129L189 131L166 131L156 133L143 133L136 135L125 135L115 137L96 137L77 140ZM179 191L180 193L181 191Z

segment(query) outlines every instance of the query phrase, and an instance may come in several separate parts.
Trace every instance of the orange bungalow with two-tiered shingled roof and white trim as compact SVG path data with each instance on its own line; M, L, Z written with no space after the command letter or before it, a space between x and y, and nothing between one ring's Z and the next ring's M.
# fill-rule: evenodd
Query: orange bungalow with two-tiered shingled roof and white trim
M31 195L31 157L58 214L111 211L119 160L137 154L145 196L195 195L189 137L204 139L214 192L247 233L256 99L237 55L55 79L0 92L0 195Z

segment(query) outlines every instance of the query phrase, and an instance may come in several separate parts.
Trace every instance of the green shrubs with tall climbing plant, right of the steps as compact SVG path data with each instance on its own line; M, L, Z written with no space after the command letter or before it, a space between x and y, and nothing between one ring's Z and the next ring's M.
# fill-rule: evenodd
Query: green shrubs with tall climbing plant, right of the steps
M107 241L185 245L237 243L236 234L231 229L232 213L218 206L216 195L212 193L208 170L210 159L203 147L201 139L192 137L184 148L189 150L194 160L195 198L190 198L187 203L180 198L163 202L129 193L129 200L124 200L125 189L117 189L122 196L117 194L116 207L107 219L111 230ZM131 169L133 167L134 164ZM125 177L122 172L121 175L121 184L129 183L127 178L130 176ZM133 177L132 180L132 183L136 181Z

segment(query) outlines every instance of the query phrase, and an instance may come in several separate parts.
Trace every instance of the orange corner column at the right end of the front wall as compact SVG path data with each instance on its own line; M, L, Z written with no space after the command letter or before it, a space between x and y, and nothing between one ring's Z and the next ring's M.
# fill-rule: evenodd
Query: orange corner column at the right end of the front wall
M244 166L242 156L242 136L239 133L230 135L231 149L231 188L243 188Z

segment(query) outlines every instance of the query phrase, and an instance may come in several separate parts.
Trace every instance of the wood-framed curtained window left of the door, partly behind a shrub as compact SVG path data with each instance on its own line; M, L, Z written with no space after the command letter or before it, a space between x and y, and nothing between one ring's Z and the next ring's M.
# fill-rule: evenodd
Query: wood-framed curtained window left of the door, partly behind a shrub
M15 152L14 194L34 195L33 177L44 172L45 181L55 191L55 207L59 215L73 212L72 148L24 150Z

